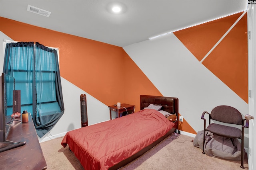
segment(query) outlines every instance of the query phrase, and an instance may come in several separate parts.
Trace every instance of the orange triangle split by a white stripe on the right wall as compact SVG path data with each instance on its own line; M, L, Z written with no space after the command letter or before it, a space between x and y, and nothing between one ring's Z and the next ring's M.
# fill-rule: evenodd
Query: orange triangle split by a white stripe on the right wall
M201 61L243 12L174 32L174 35ZM247 15L202 61L215 76L248 103Z

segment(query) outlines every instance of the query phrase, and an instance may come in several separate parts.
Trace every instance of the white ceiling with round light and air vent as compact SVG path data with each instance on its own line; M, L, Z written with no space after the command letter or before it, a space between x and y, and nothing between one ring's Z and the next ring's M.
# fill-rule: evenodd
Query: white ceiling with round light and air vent
M119 3L124 12L109 7ZM0 16L125 47L162 33L244 11L248 0L0 0ZM51 12L27 11L28 5ZM0 23L1 24L1 23Z

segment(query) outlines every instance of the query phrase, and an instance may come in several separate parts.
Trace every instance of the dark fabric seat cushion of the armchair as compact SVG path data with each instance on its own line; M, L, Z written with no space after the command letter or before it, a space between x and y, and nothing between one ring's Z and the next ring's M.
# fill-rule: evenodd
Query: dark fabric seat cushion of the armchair
M206 130L229 138L242 138L242 131L236 127L230 127L225 125L220 125L216 123L211 123Z

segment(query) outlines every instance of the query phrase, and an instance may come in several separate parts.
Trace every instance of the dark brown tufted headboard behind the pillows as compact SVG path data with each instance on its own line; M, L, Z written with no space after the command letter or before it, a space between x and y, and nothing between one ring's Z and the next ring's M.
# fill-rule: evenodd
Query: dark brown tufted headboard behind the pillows
M179 99L164 96L148 96L140 95L140 110L148 107L150 104L161 105L161 110L167 111L178 116L179 113Z

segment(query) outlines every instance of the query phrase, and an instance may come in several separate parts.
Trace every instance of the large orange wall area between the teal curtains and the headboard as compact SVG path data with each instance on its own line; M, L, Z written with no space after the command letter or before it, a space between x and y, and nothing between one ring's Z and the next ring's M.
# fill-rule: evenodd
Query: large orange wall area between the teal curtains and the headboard
M34 41L56 47L60 75L107 106L136 105L140 95L162 96L121 48L0 17L0 31L14 41Z

